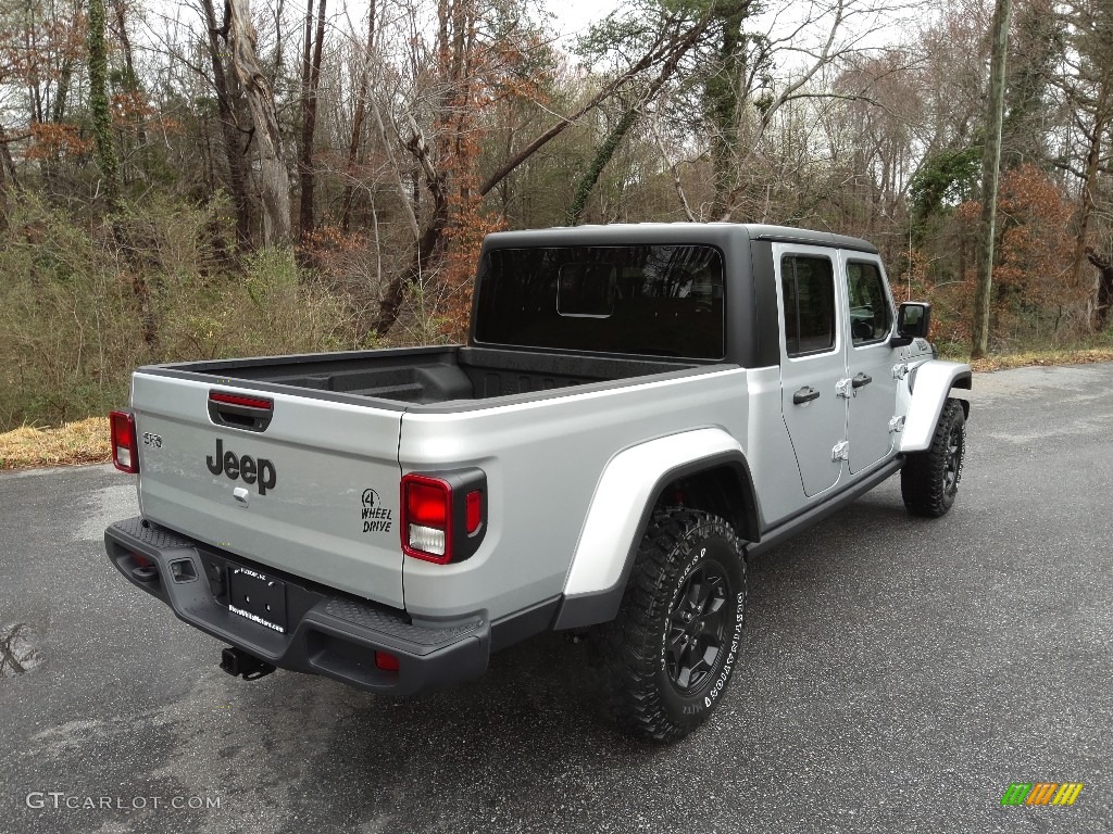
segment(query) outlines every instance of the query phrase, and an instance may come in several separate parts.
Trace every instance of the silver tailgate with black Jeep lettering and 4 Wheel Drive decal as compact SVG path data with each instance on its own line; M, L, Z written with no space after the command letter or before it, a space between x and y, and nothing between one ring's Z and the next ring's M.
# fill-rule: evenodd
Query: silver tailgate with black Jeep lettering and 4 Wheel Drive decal
M263 565L403 607L402 409L246 386L135 374L144 516ZM209 416L211 391L272 400L269 423L263 430L218 425L214 419L223 418Z

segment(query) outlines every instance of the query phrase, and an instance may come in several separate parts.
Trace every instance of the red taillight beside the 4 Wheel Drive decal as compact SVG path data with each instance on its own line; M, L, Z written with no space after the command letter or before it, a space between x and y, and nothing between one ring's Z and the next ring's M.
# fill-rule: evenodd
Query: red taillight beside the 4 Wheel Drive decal
M402 478L402 552L439 565L466 559L486 532L486 476L464 469Z

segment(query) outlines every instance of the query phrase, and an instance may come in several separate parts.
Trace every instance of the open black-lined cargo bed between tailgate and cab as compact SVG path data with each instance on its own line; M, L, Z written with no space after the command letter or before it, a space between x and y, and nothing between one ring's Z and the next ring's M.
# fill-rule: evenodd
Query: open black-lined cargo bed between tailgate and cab
M158 366L157 370L173 376L211 376L216 383L263 383L266 387L437 405L615 383L706 365L453 346L179 363Z

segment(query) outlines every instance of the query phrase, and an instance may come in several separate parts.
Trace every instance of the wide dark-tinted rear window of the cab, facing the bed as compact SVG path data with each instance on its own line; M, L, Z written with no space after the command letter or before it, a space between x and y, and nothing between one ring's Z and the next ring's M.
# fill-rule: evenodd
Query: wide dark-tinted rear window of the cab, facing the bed
M721 359L722 271L709 246L494 249L480 265L475 340Z

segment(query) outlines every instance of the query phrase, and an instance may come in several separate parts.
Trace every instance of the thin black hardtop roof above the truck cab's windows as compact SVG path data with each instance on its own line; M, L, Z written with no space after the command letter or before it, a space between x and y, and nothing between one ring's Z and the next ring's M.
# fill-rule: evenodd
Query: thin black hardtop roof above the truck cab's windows
M797 229L791 226L761 224L609 224L605 226L556 226L551 229L496 231L487 235L484 248L542 246L615 246L644 244L725 244L728 240L774 240L809 246L830 246L855 251L877 252L868 240L835 235L830 231Z

